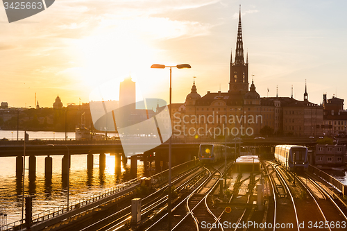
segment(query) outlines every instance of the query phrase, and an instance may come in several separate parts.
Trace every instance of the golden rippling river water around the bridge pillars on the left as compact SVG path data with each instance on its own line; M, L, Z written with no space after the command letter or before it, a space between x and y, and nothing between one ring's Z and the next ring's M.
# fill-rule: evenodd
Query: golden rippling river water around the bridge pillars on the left
M13 133L12 133L13 132ZM0 130L0 137L17 139L16 131ZM22 134L22 135L21 135ZM53 139L53 132L28 132L30 139ZM68 133L74 138L74 132ZM19 139L24 132L19 131ZM55 139L65 138L65 132L55 132ZM48 153L47 153L48 154ZM24 194L33 196L33 214L43 212L67 203L67 184L61 176L62 155L52 155L53 176L50 181L44 177L44 156L36 157L36 177L29 180L28 171L24 182ZM22 219L22 176L16 178L16 157L0 157L0 211L8 214L8 222ZM28 157L26 157L28 169ZM137 176L144 172L143 162L137 162ZM87 155L71 155L69 200L78 200L96 192L115 187L120 182L130 180L130 160L121 164L121 172L115 172L115 156L106 155L105 171L99 171L99 155L94 155L94 169L87 171Z

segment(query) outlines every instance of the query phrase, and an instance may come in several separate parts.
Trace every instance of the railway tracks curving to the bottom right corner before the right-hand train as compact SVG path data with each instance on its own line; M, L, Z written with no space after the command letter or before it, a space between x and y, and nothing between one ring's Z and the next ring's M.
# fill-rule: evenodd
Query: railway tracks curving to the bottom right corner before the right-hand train
M281 225L292 224L292 230L341 230L347 228L347 217L333 203L333 199L314 180L305 174L286 171L279 164L269 162L266 166L274 196L272 230L279 230ZM275 176L278 180L276 180ZM278 182L281 182L278 187ZM287 194L278 193L285 187ZM268 219L269 222L270 219ZM344 230L344 229L342 229Z

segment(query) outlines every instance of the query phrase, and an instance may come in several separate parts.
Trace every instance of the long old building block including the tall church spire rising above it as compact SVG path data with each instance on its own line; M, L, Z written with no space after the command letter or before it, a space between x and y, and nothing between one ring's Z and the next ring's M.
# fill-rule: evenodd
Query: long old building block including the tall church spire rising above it
M279 135L323 134L323 106L291 97L261 97L252 80L248 88L248 54L244 61L241 11L237 30L235 60L230 57L228 92L198 94L195 81L180 111L171 110L174 135L218 138L257 136L262 129ZM262 132L264 134L264 130Z

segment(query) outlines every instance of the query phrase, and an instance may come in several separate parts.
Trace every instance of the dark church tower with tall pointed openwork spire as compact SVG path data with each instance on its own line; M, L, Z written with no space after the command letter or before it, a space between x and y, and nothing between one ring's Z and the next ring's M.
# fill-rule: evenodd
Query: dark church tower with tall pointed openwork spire
M244 62L244 44L242 42L241 6L239 9L239 28L237 30L237 42L235 62L230 58L230 82L229 92L248 92L248 54Z

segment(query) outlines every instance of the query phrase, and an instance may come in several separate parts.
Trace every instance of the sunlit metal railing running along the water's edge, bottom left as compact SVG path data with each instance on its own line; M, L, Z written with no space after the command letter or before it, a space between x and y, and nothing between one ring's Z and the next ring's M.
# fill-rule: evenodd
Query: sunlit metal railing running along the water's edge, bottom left
M117 194L119 191L123 191L124 189L128 189L129 187L133 187L134 185L139 185L142 182L142 180L143 178L135 178L121 185L117 185L116 187L112 187L110 189L101 191L97 194L93 194L92 196L87 196L85 198L82 198L81 200L72 201L69 203L69 205L62 205L44 212L40 212L39 214L35 214L32 216L32 223L35 224L38 222L46 221L52 219L53 217L60 216L61 214L71 212L74 209L78 209L85 205L90 205L92 203L97 202L98 200ZM19 226L24 223L25 220L21 219L19 221L8 223L7 225L3 225L2 227L0 227L0 230L13 230L13 228L15 228L16 226Z

